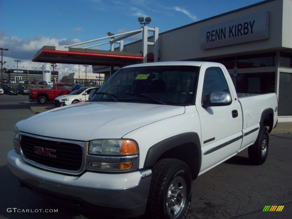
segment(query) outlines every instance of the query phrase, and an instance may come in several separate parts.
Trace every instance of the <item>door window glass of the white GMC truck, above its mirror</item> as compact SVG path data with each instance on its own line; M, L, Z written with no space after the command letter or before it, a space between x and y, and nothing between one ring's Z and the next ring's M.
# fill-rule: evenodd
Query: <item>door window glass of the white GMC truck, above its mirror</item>
M203 85L204 100L208 100L210 92L212 91L227 91L229 93L223 72L217 67L208 68L206 70Z

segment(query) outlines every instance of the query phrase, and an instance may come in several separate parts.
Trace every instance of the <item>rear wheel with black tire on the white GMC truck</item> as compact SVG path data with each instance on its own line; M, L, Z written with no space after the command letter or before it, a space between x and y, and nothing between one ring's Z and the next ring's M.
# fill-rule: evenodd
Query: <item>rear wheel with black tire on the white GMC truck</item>
M260 128L256 142L248 147L248 158L256 165L263 164L268 156L269 132L266 126Z

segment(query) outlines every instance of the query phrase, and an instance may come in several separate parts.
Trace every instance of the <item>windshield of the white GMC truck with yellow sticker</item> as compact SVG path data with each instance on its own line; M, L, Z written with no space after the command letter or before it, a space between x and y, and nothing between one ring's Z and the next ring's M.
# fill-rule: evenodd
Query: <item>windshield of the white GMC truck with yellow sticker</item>
M120 69L90 101L194 105L198 72L199 67L184 65Z

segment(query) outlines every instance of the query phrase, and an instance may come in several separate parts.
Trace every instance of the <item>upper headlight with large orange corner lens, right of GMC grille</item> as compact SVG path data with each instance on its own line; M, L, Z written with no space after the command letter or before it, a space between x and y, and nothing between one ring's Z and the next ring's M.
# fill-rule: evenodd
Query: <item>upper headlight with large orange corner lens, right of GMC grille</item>
M138 146L129 139L100 139L90 141L88 150L94 155L128 155L137 154Z

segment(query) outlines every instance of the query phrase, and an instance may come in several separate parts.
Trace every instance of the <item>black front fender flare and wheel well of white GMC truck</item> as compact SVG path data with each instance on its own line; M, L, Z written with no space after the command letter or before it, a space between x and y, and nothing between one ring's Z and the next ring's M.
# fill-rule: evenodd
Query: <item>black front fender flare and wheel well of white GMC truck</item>
M187 163L195 179L202 161L199 135L194 132L181 133L152 145L147 152L144 168L151 168L157 160L164 158L180 159Z

